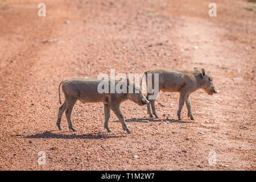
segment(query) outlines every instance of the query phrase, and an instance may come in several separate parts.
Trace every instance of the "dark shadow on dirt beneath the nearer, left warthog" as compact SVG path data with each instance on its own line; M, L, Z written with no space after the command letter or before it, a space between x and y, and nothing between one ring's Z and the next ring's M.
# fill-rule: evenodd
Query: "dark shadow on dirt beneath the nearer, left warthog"
M77 135L77 134L70 135L70 134L65 134L67 133L67 131L60 132L60 133L52 133L52 131L59 131L59 130L45 131L44 133L29 135L24 138L107 139L107 138L126 137L123 135L110 135L110 134L105 135L105 133L103 132L100 134L90 133L90 134L81 134L81 135ZM72 132L72 131L69 131L69 132Z

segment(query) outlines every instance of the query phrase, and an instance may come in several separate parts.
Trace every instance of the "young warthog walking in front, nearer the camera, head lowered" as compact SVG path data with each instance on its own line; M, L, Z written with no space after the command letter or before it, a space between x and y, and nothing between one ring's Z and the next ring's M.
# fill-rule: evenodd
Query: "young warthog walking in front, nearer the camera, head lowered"
M108 82L108 83L107 83ZM117 81L107 81L105 84L110 85L117 84ZM120 83L121 81L119 81ZM72 78L70 80L64 80L60 82L62 84L62 90L65 96L65 102L59 108L59 114L57 118L57 126L59 130L62 130L60 127L61 117L65 111L68 127L69 129L76 131L76 129L72 126L71 122L71 113L73 106L76 101L79 100L82 103L86 102L103 102L104 111L105 111L105 123L104 128L111 131L108 126L108 121L110 117L110 110L112 110L117 118L122 123L123 130L127 131L127 133L131 133L125 123L125 118L120 110L120 104L123 101L131 100L137 103L138 105L145 105L148 103L146 98L141 93L141 88L138 85L135 85L134 82L129 81L129 79L123 81L127 86L127 91L130 86L133 86L133 93L99 93L98 85L101 83L101 80L90 80L85 78ZM60 99L60 85L59 85L59 99ZM61 104L61 101L60 101Z

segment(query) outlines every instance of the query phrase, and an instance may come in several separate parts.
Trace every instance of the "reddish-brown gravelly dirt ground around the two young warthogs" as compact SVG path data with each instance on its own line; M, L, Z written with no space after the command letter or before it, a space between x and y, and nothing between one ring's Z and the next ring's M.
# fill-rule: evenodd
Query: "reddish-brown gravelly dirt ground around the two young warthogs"
M39 17L40 2L0 1L1 170L256 169L255 3L214 1L209 17L205 0L45 0ZM177 120L178 93L160 92L160 119L126 101L131 134L113 113L108 133L103 104L77 101L77 133L65 114L57 130L60 81L152 67L205 68L220 93L192 93L195 121L185 106Z

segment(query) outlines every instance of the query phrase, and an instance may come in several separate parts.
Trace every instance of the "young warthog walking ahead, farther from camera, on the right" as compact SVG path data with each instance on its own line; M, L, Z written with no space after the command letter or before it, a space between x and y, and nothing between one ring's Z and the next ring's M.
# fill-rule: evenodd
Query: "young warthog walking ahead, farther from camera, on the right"
M151 73L151 74L150 74ZM158 89L157 83L155 80L155 74L158 74L159 82L158 82ZM204 69L194 68L192 71L172 71L168 69L151 69L144 72L143 76L146 76L146 82L151 84L151 81L148 80L148 75L151 75L152 85L147 87L147 100L150 103L147 104L147 112L150 114L150 117L153 117L153 114L156 118L159 118L155 111L155 99L158 96L160 90L163 92L179 92L179 110L177 111L177 116L181 120L180 117L181 109L184 105L184 102L187 105L188 109L188 117L192 120L193 115L191 112L191 104L189 100L189 94L195 92L198 89L203 89L209 95L213 93L218 93L218 91L213 86L212 77L205 73ZM142 78L143 78L142 76ZM150 93L151 92L151 93ZM148 98L149 96L153 96L153 98ZM152 111L151 111L151 108Z

